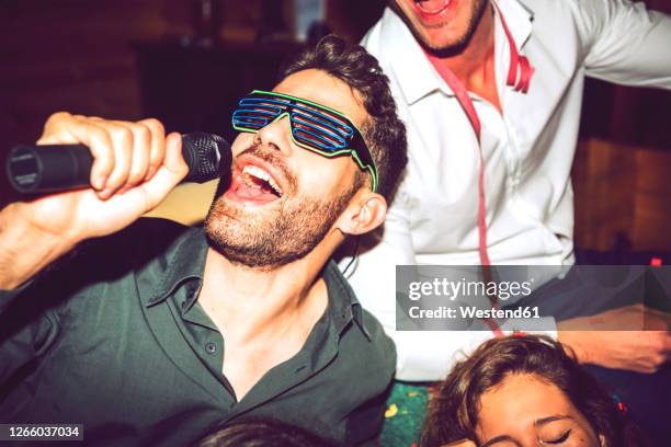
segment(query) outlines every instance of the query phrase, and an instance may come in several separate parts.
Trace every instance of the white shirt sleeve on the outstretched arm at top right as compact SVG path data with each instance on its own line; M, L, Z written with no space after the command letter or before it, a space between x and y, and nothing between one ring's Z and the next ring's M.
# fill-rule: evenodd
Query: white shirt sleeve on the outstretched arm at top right
M628 0L576 0L587 74L671 89L671 16Z

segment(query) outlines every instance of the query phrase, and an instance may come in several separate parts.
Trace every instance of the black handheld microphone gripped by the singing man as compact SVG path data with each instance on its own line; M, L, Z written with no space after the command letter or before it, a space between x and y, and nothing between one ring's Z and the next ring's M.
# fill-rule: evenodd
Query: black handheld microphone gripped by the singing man
M231 163L228 142L214 134L182 135L182 156L189 167L184 182L204 183ZM56 193L90 185L93 156L84 145L20 145L7 158L7 176L23 194Z

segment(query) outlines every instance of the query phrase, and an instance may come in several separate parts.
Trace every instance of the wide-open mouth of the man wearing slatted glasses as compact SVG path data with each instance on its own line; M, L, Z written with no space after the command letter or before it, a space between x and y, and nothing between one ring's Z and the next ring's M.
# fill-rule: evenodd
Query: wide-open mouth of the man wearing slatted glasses
M249 161L236 167L226 197L246 207L266 205L282 198L284 191L280 182L262 164Z

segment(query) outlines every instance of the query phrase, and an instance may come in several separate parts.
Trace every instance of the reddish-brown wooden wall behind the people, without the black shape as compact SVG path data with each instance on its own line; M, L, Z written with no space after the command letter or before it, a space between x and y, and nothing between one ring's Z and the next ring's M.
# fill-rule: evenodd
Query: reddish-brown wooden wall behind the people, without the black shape
M221 37L253 41L263 0L220 1ZM668 0L646 3L671 12ZM329 25L357 41L384 4L329 0ZM144 117L130 45L193 35L192 8L192 0L0 0L1 159L35 140L57 110ZM599 82L587 93L573 179L578 244L671 251L671 95Z

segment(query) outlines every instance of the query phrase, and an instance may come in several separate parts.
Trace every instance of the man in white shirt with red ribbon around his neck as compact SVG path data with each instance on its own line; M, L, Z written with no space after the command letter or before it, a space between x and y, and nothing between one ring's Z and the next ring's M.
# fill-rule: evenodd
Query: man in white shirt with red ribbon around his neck
M350 279L395 339L397 378L437 380L491 333L396 331L395 283L380 278L400 264L480 264L484 256L573 263L570 170L584 77L671 89L671 19L627 0L390 0L363 44L390 78L410 162L384 234L360 254ZM445 70L467 91L479 145ZM610 324L644 317L659 316L626 308L612 311ZM652 373L670 358L668 331L566 328L559 324L558 337L582 363Z

